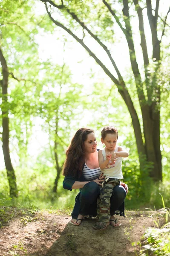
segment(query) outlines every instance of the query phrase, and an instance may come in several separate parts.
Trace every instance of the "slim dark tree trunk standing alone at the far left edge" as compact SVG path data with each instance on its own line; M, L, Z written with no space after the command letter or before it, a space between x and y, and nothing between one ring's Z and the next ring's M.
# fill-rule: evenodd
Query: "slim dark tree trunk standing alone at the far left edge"
M8 67L6 64L6 60L3 56L3 53L0 49L0 62L2 65L2 74L3 80L1 81L2 86L2 125L3 125L3 156L6 166L7 177L9 181L9 192L10 197L17 197L17 183L16 177L14 173L14 169L11 162L11 157L9 153L9 117L8 117Z

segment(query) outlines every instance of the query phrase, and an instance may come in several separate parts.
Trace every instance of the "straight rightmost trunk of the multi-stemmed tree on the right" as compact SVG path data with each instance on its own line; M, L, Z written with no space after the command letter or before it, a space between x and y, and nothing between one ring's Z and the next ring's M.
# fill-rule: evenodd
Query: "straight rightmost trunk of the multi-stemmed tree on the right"
M153 61L156 61L155 64L155 73L152 80L152 94L148 95L150 100L150 118L152 120L152 139L153 146L155 150L155 157L157 169L156 173L153 173L153 176L156 177L155 180L162 180L162 165L161 165L161 150L160 150L160 102L161 102L161 93L160 87L158 86L157 73L159 71L159 65L161 64L160 58L160 44L161 41L158 40L157 32L157 20L158 20L158 8L159 0L156 0L156 9L155 15L153 15L152 3L151 0L146 0L147 3L147 16L150 24L150 30L152 34L152 45L153 45ZM155 99L155 100L152 100ZM149 140L148 140L149 143Z

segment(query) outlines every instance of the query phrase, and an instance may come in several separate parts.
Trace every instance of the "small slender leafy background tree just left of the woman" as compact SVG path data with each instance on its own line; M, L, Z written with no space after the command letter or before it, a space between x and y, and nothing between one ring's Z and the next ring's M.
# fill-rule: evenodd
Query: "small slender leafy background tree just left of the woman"
M65 159L64 151L69 143L66 138L69 137L70 124L74 121L74 111L81 102L82 86L72 82L72 74L64 61L62 66L52 66L49 62L42 66L43 86L37 102L37 116L45 121L43 130L49 134L51 160L57 171L53 192L57 192Z

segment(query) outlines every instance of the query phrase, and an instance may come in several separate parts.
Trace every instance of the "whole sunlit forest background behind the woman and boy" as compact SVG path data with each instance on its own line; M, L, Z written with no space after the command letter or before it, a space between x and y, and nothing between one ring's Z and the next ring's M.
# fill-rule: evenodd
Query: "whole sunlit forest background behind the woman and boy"
M72 209L75 131L118 128L126 209L170 204L166 0L0 1L0 205ZM161 193L161 195L160 195Z

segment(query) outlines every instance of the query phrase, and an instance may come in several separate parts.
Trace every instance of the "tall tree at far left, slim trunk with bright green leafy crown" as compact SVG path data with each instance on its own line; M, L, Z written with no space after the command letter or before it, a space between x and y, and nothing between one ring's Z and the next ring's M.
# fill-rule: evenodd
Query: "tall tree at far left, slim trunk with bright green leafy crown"
M4 162L9 181L9 192L11 197L17 196L17 183L10 157L10 115L11 109L11 88L17 82L28 78L28 67L30 68L31 59L29 54L36 52L36 44L33 41L34 34L37 32L35 21L32 15L32 1L9 1L5 0L0 4L0 64L2 67L1 87L2 104L2 143ZM27 15L23 15L27 14ZM34 20L34 23L32 21ZM29 26L28 26L29 21ZM31 35L29 35L29 33ZM27 52L27 54L26 54ZM22 63L22 65L21 65ZM27 66L27 68L26 68ZM25 67L25 70L24 70ZM20 102L22 104L22 102ZM19 107L20 108L20 107Z

